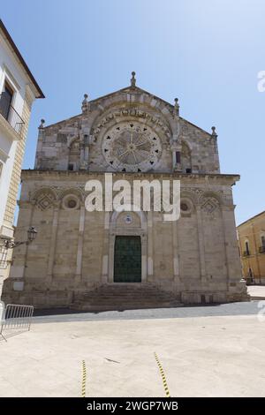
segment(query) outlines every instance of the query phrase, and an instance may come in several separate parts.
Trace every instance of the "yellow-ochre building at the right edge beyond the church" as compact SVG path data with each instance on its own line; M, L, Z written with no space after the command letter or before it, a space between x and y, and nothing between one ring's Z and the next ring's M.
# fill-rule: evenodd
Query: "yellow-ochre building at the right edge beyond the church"
M238 226L239 252L247 283L265 283L265 212Z

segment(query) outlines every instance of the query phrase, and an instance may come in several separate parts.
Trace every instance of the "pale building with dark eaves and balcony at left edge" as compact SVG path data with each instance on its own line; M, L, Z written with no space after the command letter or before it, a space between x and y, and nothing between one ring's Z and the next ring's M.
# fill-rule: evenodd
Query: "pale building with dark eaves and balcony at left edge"
M13 239L14 211L30 112L35 98L43 97L0 20L0 298L4 278L10 270L12 251L6 249L6 243Z

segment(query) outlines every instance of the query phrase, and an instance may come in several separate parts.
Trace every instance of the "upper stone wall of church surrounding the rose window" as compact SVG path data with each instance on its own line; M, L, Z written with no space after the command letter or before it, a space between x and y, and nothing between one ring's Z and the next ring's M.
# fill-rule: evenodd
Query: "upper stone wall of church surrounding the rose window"
M177 122L172 114L173 107L151 94L128 88L127 91L119 91L91 102L89 109L77 117L42 128L37 146L36 169L68 170L69 164L73 164L73 170L79 170L78 157L76 160L72 157L74 142L76 145L79 143L79 152L87 146L84 170L115 171L102 154L103 136L113 124L137 120L151 126L163 143L161 160L149 171L173 170L172 140L178 136L178 142L183 142L190 151L194 173L220 172L216 136L181 117L178 117Z

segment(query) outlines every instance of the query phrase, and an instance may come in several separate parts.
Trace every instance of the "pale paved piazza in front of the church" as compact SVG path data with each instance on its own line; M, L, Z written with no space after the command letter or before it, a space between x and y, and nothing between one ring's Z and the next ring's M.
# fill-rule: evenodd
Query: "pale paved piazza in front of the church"
M265 396L258 301L38 316L0 341L0 396Z

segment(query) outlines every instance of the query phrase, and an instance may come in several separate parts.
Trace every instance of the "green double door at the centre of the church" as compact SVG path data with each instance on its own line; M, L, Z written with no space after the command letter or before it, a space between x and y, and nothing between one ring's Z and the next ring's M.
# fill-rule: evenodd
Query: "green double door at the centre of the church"
M140 237L118 236L115 238L114 282L141 282Z

